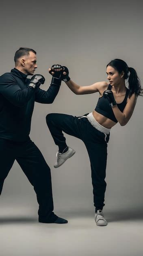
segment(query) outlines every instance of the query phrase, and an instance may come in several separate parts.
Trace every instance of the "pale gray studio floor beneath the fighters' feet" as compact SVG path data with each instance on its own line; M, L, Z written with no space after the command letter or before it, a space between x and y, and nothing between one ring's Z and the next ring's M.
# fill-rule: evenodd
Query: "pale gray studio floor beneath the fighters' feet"
M143 212L108 211L98 227L94 213L59 211L67 224L43 224L26 206L1 207L0 256L143 256Z

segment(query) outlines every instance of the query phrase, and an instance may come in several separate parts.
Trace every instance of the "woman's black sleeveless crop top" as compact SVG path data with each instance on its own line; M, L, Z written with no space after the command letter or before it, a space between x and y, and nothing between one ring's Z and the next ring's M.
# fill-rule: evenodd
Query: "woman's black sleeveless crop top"
M107 90L111 90L111 88L112 88L112 86L111 86L111 84L109 84ZM124 110L124 108L126 106L128 94L129 94L129 89L127 88L126 96L124 98L124 101L119 103L119 104L117 104L117 106L118 106L118 108L119 108L119 110L121 112L123 112L123 110ZM97 103L97 106L95 108L95 111L100 113L104 117L107 117L107 118L111 119L115 123L118 122L116 117L115 117L115 115L114 115L113 109L112 109L112 107L109 104L108 99L105 98L104 96L102 96L102 97L100 97L98 99L98 103Z

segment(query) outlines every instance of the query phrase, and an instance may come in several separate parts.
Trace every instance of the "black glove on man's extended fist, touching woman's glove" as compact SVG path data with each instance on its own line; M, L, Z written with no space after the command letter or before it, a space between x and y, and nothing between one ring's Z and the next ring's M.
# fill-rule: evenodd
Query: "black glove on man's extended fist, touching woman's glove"
M56 71L56 69L61 69L62 66L61 65L52 65L51 70L49 71L49 73L52 75L52 81L51 83L53 83L54 85L61 85L61 71ZM54 72L54 74L52 74L52 72Z

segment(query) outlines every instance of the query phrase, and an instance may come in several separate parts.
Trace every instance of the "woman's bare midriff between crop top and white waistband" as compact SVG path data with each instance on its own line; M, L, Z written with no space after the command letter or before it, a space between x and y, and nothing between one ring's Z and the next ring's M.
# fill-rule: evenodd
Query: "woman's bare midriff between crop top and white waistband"
M115 126L114 121L112 121L111 119L104 117L103 115L101 115L100 113L96 112L95 110L93 111L93 117L96 119L96 121L101 124L102 126L110 129L113 126Z

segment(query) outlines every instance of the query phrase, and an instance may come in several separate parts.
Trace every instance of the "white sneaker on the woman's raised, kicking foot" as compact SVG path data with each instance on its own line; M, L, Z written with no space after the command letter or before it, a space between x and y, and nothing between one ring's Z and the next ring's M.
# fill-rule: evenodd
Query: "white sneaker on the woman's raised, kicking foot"
M59 153L59 151L56 153L56 163L54 164L54 168L58 168L59 166L61 166L63 163L65 163L65 161L72 157L74 154L76 153L76 151L72 148L68 148L67 152L65 153Z

